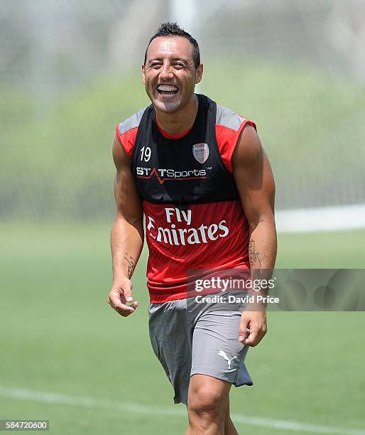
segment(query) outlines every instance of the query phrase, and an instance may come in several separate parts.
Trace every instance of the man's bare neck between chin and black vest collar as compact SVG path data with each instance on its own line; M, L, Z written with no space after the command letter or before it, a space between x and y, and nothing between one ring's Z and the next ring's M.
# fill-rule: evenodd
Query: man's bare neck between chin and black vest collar
M171 136L176 136L192 127L192 124L195 122L195 117L197 116L197 107L198 100L195 94L192 95L184 108L178 112L166 113L156 107L158 124L160 124L160 127L166 131L166 133L171 134Z

